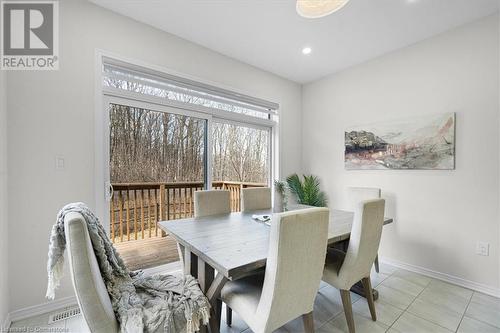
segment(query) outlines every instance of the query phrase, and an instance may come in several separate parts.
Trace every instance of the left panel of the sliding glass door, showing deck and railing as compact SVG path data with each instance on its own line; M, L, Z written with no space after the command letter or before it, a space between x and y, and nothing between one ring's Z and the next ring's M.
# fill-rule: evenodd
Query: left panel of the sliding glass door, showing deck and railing
M113 98L107 111L110 238L130 269L175 262L158 222L192 216L194 191L208 187L209 118Z

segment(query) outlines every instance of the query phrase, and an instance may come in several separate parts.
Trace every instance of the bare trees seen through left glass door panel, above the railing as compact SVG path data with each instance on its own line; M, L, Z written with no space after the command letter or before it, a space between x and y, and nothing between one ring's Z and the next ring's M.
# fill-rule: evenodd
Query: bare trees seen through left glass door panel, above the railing
M206 120L109 104L112 183L203 182Z

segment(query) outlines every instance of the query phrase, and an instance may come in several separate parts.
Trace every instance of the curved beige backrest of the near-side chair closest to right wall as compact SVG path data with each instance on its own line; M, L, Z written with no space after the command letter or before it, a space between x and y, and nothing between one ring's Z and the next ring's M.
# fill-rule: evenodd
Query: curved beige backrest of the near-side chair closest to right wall
M346 288L370 275L382 236L384 208L385 200L375 199L358 203L354 211L349 247L339 271Z

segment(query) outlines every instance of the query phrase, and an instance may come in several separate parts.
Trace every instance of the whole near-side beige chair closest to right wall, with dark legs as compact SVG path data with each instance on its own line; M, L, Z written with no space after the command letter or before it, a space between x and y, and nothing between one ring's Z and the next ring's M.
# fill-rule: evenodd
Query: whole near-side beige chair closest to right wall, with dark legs
M354 213L347 252L328 249L323 281L340 290L349 332L354 333L351 287L361 281L373 321L377 320L373 301L370 270L377 256L384 225L385 200L360 202Z

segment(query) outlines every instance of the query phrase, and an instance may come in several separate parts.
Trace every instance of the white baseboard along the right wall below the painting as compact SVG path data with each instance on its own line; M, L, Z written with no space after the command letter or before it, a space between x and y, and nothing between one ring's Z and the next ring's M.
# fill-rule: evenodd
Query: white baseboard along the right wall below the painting
M453 275L449 275L446 273L441 273L437 271L433 271L428 268L412 265L412 264L406 264L397 260L389 259L389 258L384 258L380 257L380 262L389 266L393 266L396 268L401 268L401 269L406 269L407 271L422 274L437 280L445 281L448 283L456 284L458 286L468 288L471 290L478 291L483 294L491 295L494 297L500 297L500 289L488 286L482 283L477 283L474 281L462 279Z

